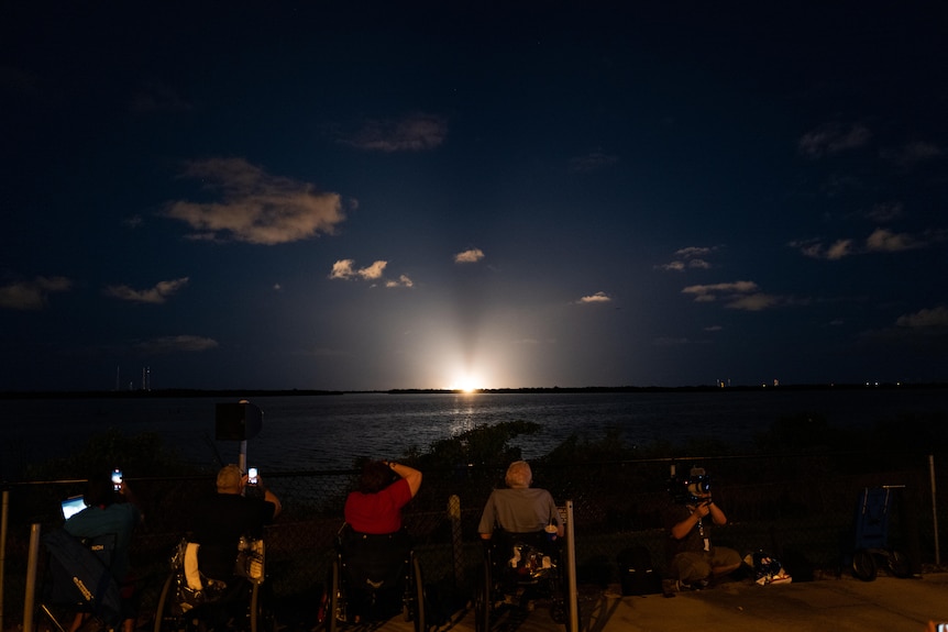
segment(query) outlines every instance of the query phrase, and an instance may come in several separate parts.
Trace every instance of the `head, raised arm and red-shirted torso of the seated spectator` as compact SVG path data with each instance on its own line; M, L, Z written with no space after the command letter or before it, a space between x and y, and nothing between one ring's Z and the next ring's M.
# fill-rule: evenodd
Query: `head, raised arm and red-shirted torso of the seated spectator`
M371 461L362 468L359 489L345 499L345 522L357 533L395 533L401 530L401 508L420 487L421 473L414 467Z

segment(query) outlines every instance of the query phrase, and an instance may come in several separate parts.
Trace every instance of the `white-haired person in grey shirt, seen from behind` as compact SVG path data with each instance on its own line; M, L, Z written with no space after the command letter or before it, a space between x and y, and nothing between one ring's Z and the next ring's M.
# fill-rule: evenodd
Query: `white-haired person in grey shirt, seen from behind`
M556 536L563 536L563 519L553 497L545 489L530 487L533 473L526 461L515 461L504 478L507 487L495 489L484 506L477 532L490 540L499 526L509 533L536 533L555 526Z

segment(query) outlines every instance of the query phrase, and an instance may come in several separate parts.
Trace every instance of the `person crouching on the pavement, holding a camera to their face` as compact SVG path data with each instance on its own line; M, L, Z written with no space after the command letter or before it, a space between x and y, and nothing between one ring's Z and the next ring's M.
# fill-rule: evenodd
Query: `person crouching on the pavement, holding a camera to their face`
M670 575L679 589L706 588L740 568L742 561L734 548L712 544L712 526L726 524L727 515L712 498L704 469L692 468L688 479L677 485L684 492L673 490L675 502L664 517Z

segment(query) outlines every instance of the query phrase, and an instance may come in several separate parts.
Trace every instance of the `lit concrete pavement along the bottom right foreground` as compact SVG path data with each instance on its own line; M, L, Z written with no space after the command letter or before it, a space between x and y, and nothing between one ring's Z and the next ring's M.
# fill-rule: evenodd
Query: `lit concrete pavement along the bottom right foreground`
M581 592L577 632L926 632L929 622L948 623L948 573L913 578L852 577L757 586L731 581L701 591L622 597L618 586ZM293 628L288 625L287 629ZM372 630L412 632L397 617ZM563 632L538 607L500 618L494 632ZM439 632L473 632L474 614L456 612Z

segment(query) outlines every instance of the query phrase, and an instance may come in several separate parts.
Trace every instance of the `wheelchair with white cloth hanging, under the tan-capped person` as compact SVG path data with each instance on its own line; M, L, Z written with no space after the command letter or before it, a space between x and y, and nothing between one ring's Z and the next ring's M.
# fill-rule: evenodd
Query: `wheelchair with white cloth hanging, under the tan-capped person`
M198 545L183 539L172 554L172 572L162 586L154 632L274 632L264 542L242 537L239 551L235 567L242 576L225 584L199 572Z

